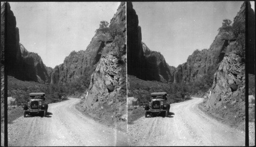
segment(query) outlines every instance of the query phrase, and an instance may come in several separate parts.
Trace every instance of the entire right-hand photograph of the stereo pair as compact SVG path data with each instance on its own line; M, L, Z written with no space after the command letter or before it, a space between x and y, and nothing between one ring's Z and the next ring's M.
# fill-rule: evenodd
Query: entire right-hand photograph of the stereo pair
M126 3L129 145L245 145L245 17L245 2Z

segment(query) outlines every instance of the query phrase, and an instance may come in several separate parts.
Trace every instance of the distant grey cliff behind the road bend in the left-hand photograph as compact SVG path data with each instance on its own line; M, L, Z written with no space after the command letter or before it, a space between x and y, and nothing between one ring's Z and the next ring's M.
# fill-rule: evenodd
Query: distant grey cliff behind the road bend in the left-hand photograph
M63 64L56 66L51 73L51 83L67 83L85 73L92 74L94 65L99 62L106 39L95 34L86 50L72 51Z

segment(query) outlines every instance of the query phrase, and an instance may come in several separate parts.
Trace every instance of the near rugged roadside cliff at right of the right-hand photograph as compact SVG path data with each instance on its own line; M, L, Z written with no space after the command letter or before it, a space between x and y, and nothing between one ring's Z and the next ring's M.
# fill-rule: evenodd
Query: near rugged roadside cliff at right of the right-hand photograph
M233 25L239 24L241 28L245 27L245 5L246 3L243 3L233 23ZM248 13L253 13L250 4L248 8ZM242 33L240 38L245 38L245 33ZM239 39L235 38L228 44L229 52L226 52L214 74L211 94L204 104L206 109L218 113L220 117L231 122L243 122L245 119L245 61L239 54L241 46L238 42ZM245 50L249 49L245 48Z

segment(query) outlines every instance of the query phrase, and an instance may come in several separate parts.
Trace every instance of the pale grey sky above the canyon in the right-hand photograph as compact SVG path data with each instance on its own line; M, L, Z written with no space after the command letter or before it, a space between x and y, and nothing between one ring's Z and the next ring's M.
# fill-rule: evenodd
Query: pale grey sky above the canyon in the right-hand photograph
M242 4L133 2L133 8L139 18L142 41L151 50L161 52L167 64L177 67L185 63L194 50L208 49L223 19L233 21Z

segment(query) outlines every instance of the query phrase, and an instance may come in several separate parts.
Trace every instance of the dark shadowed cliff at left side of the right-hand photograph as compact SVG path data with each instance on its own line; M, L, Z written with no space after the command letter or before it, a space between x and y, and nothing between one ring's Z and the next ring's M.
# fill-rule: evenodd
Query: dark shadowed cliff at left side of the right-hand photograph
M131 2L127 2L127 74L143 80L173 82L160 52L148 49L142 42L141 27L138 26L138 16ZM148 72L146 72L148 71Z

